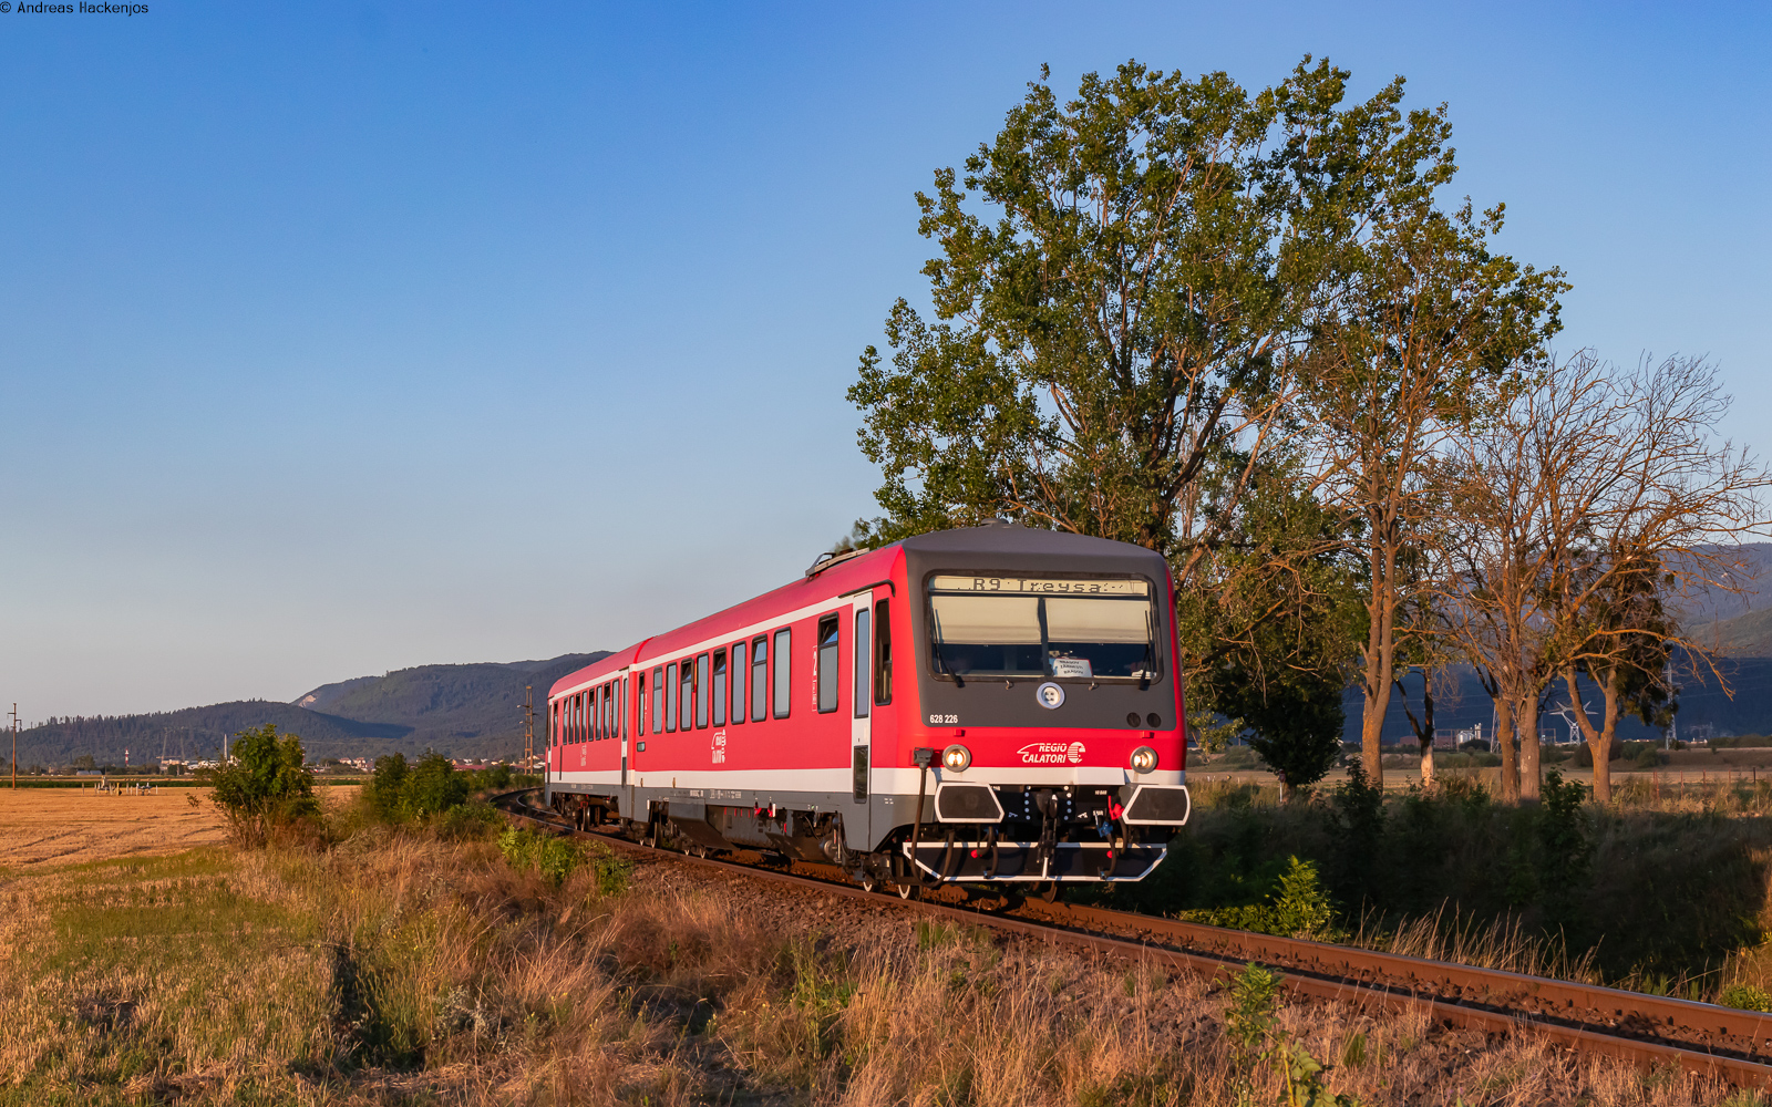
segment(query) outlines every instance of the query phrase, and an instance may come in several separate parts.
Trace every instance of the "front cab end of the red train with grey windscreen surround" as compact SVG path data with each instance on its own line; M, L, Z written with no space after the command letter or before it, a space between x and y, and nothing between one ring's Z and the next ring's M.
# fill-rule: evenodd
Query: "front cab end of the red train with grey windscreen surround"
M1148 875L1189 815L1161 554L992 524L909 538L898 569L893 636L911 648L874 677L900 696L875 708L893 732L872 735L882 802L868 808L884 834L868 863L891 870L875 875L1049 887ZM859 728L856 742L859 793Z

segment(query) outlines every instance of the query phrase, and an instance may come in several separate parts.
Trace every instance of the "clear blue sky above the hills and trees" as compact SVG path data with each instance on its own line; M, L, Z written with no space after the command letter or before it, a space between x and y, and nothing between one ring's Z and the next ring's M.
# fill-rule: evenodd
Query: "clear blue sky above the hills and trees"
M0 700L27 721L613 648L872 512L911 195L1038 66L1446 101L1565 347L1767 452L1763 5L149 0L0 16Z

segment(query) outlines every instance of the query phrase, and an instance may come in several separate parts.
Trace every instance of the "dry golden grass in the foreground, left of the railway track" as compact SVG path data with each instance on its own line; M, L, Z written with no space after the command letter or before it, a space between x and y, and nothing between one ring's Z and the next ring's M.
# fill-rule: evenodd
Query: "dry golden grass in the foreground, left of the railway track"
M645 866L562 887L386 829L0 882L0 1103L1274 1102L1223 981ZM1361 1103L1721 1102L1678 1073L1310 1004ZM1740 1100L1747 1102L1747 1100Z

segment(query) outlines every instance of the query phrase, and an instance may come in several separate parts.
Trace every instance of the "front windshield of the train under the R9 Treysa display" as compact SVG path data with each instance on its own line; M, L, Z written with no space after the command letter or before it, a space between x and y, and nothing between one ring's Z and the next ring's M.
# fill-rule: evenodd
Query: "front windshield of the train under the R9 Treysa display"
M936 576L929 606L937 673L1157 677L1148 581Z

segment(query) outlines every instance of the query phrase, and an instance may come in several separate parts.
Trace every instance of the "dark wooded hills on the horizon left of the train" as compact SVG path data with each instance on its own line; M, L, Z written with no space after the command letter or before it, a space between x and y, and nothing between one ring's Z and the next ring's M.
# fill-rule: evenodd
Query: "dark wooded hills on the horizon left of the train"
M505 664L427 664L385 677L326 684L294 703L239 700L145 716L50 719L18 735L19 765L62 767L90 755L97 765L131 765L167 756L214 756L223 735L275 723L301 735L310 760L416 755L512 756L521 753L523 685L535 693L537 744L548 689L608 652L565 654ZM0 751L4 755L5 751Z

